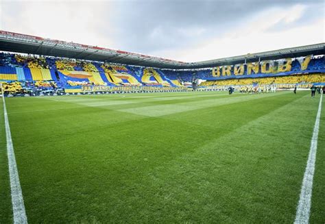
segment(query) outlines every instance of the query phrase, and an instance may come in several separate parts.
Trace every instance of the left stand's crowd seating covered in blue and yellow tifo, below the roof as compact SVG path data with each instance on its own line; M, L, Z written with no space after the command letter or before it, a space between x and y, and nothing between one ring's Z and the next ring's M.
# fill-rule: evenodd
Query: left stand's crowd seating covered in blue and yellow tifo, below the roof
M81 92L89 86L109 92L187 90L158 69L10 53L0 53L0 82L5 95Z

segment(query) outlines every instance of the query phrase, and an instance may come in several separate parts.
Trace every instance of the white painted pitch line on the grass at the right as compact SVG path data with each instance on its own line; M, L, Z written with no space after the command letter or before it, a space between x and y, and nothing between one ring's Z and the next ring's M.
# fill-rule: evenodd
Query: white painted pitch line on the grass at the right
M302 180L300 199L298 202L296 219L294 222L295 224L309 223L309 214L311 211L311 193L313 190L313 177L315 172L317 139L318 131L320 129L320 112L322 110L322 97L323 95L320 96L320 104L318 105L313 137L311 138L311 149L309 151L306 171L304 171L304 179Z

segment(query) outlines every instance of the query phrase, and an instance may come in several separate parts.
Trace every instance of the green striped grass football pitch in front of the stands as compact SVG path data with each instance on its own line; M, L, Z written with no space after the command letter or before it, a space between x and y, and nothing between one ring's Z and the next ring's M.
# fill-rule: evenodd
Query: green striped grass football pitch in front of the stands
M28 222L293 223L319 102L308 91L5 98ZM322 104L310 223L325 222ZM0 115L0 223L11 223L2 102Z

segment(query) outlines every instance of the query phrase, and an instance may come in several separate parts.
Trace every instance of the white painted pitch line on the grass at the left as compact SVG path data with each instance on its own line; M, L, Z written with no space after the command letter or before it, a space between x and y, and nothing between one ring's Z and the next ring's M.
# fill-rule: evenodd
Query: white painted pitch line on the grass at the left
M5 108L5 97L2 97L2 99L3 112L5 115L5 136L7 138L8 166L11 188L12 212L14 213L14 223L27 223L23 193L21 192L21 184L19 182L16 159L14 158L14 146L12 145L7 108Z

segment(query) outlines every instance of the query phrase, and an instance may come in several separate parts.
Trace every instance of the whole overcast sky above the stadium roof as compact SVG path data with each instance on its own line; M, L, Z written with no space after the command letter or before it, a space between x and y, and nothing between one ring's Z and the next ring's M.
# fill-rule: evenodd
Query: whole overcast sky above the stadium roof
M0 29L195 62L325 42L324 11L324 0L0 0Z

